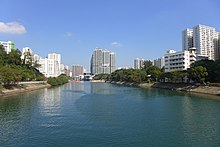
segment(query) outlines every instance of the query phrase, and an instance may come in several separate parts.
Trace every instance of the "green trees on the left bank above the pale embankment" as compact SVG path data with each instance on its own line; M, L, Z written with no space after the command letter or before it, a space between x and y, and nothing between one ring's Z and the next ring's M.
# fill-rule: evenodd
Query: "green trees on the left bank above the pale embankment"
M24 64L21 60L21 51L11 50L6 53L0 45L0 84L4 86L14 85L19 81L44 80L45 77L35 67Z

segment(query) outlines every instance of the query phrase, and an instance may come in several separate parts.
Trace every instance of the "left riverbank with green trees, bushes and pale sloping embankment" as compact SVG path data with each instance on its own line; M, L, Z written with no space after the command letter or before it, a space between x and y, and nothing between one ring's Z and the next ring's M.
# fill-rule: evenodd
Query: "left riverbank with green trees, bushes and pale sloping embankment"
M0 96L18 92L31 91L68 82L66 75L57 78L46 78L37 69L40 65L33 62L32 56L18 49L6 53L0 45ZM43 83L37 81L43 81ZM24 82L23 84L20 84ZM25 83L26 82L26 83Z

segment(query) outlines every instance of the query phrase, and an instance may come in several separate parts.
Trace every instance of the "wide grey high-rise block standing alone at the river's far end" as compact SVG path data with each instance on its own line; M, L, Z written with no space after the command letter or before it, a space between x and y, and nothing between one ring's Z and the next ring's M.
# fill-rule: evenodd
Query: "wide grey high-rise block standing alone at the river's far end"
M91 74L110 74L115 71L115 53L95 48L91 57Z

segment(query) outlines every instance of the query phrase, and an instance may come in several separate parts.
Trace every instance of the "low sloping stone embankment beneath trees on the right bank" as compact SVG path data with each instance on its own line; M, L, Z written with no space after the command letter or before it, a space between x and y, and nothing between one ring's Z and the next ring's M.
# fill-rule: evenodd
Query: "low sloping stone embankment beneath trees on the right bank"
M176 91L194 92L220 96L220 87L194 85L187 83L132 83L132 82L110 82L112 84L136 86L140 88L162 88Z

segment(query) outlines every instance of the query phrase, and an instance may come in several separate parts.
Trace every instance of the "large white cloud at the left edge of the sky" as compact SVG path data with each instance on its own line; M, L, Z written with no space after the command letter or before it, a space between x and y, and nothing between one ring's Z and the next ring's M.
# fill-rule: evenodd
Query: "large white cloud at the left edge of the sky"
M26 32L25 27L18 22L0 22L0 33L24 34Z

